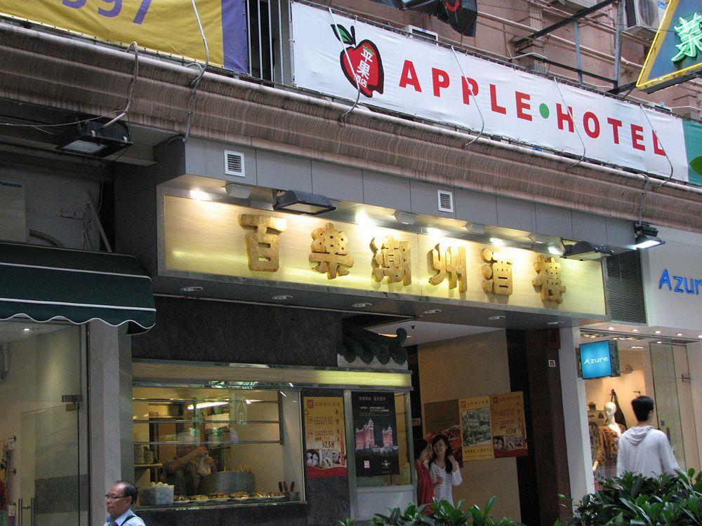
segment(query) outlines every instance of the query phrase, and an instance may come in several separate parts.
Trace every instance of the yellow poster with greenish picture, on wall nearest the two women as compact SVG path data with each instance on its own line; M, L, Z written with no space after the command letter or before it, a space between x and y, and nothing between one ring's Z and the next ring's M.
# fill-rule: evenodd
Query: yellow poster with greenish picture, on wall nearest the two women
M461 398L458 411L461 414L463 460L493 459L490 397Z

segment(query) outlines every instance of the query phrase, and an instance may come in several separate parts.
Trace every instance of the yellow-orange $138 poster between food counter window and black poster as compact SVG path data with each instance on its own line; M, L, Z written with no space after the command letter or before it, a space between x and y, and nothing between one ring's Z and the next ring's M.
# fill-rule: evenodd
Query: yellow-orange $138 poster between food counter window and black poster
M343 397L305 396L303 406L307 477L347 476Z

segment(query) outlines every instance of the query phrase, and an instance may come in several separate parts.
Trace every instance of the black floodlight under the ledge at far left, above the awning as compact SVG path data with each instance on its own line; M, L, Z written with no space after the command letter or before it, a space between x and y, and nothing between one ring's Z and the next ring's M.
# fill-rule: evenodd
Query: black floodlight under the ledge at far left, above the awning
M68 154L107 157L132 144L125 123L117 121L105 126L99 121L86 121L76 123L56 149Z

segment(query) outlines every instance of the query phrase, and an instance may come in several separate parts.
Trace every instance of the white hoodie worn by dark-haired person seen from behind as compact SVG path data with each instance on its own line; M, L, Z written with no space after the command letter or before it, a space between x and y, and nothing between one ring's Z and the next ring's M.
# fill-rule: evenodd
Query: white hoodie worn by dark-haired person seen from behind
M616 475L621 477L624 471L641 473L654 477L661 473L675 475L680 469L670 447L668 436L663 431L651 426L633 427L619 438L616 459Z

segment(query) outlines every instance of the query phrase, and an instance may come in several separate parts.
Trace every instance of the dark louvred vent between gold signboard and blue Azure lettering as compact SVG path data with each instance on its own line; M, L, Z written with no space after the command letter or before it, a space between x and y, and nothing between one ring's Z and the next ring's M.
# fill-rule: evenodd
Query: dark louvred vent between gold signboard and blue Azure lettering
M607 313L614 321L646 323L639 253L635 250L605 258Z

